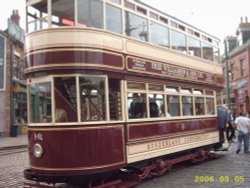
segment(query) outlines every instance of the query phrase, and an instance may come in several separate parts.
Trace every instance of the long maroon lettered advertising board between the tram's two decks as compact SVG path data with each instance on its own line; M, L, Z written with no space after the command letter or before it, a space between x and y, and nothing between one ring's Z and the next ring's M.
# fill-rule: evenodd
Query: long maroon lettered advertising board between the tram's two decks
M129 71L143 71L148 74L155 74L160 76L169 76L180 79L204 81L208 83L214 83L215 77L212 74L198 72L195 70L185 69L181 67L175 67L168 64L161 64L157 62L149 62L145 60L128 58L127 60Z

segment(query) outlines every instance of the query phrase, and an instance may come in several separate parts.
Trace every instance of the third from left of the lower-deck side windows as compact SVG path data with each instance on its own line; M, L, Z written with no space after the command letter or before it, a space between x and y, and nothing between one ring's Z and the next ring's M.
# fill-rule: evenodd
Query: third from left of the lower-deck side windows
M180 116L180 97L174 95L167 96L167 115L170 117Z

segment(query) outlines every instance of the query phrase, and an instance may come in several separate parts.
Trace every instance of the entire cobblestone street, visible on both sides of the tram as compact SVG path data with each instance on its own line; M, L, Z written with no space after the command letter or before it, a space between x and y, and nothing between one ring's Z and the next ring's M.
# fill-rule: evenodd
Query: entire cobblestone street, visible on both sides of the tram
M145 181L137 188L250 188L250 155L236 154L235 144L223 157L199 165L180 164L162 177ZM27 151L0 155L0 188L21 188Z

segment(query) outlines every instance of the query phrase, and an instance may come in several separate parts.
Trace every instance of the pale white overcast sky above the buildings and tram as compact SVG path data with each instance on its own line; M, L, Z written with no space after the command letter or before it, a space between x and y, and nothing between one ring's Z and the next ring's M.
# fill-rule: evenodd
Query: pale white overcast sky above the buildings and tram
M7 19L18 9L21 27L25 28L25 1L7 0L0 6L0 29L7 28ZM221 40L235 35L241 17L250 22L249 0L141 0L150 6L199 28ZM3 5L4 4L4 5Z

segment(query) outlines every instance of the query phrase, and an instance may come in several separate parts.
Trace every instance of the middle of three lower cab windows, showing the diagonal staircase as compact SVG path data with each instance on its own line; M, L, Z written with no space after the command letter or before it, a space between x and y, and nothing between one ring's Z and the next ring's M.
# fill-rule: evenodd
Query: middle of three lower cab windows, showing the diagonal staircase
M55 122L77 122L76 78L54 78Z

